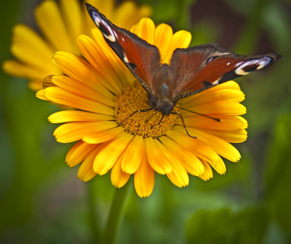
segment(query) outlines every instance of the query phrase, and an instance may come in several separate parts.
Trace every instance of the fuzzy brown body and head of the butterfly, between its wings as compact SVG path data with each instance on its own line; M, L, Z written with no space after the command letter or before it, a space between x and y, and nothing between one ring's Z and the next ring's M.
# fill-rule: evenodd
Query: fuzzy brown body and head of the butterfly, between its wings
M153 77L153 94L148 95L148 104L163 115L169 115L175 106L173 79L173 72L168 64L161 65Z

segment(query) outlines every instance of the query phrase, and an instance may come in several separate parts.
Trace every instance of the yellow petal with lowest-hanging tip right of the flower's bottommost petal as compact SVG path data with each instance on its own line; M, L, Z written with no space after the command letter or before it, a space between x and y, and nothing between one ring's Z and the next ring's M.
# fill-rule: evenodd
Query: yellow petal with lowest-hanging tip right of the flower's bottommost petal
M175 186L178 186L180 188L182 188L183 186L188 186L189 176L184 166L180 163L179 159L157 139L154 139L154 142L172 165L172 172L167 174L169 180Z

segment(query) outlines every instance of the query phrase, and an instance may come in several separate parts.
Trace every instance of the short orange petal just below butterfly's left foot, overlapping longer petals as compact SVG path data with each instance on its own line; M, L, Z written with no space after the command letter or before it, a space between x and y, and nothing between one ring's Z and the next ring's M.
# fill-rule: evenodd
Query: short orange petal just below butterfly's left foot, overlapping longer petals
M90 144L106 142L118 136L122 131L124 131L124 127L117 126L112 129L87 134L83 136L82 140Z

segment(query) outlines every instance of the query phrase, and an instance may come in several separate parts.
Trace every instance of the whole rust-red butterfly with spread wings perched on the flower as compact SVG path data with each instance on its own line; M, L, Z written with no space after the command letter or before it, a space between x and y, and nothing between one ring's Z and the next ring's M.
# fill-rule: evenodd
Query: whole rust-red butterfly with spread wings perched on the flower
M168 65L162 63L155 45L117 27L92 5L85 5L107 44L148 93L150 108L136 110L127 118L136 112L151 110L160 112L162 118L175 114L180 116L188 136L191 135L186 129L182 115L174 109L179 99L262 69L281 57L276 53L239 55L212 42L189 48L176 48Z

